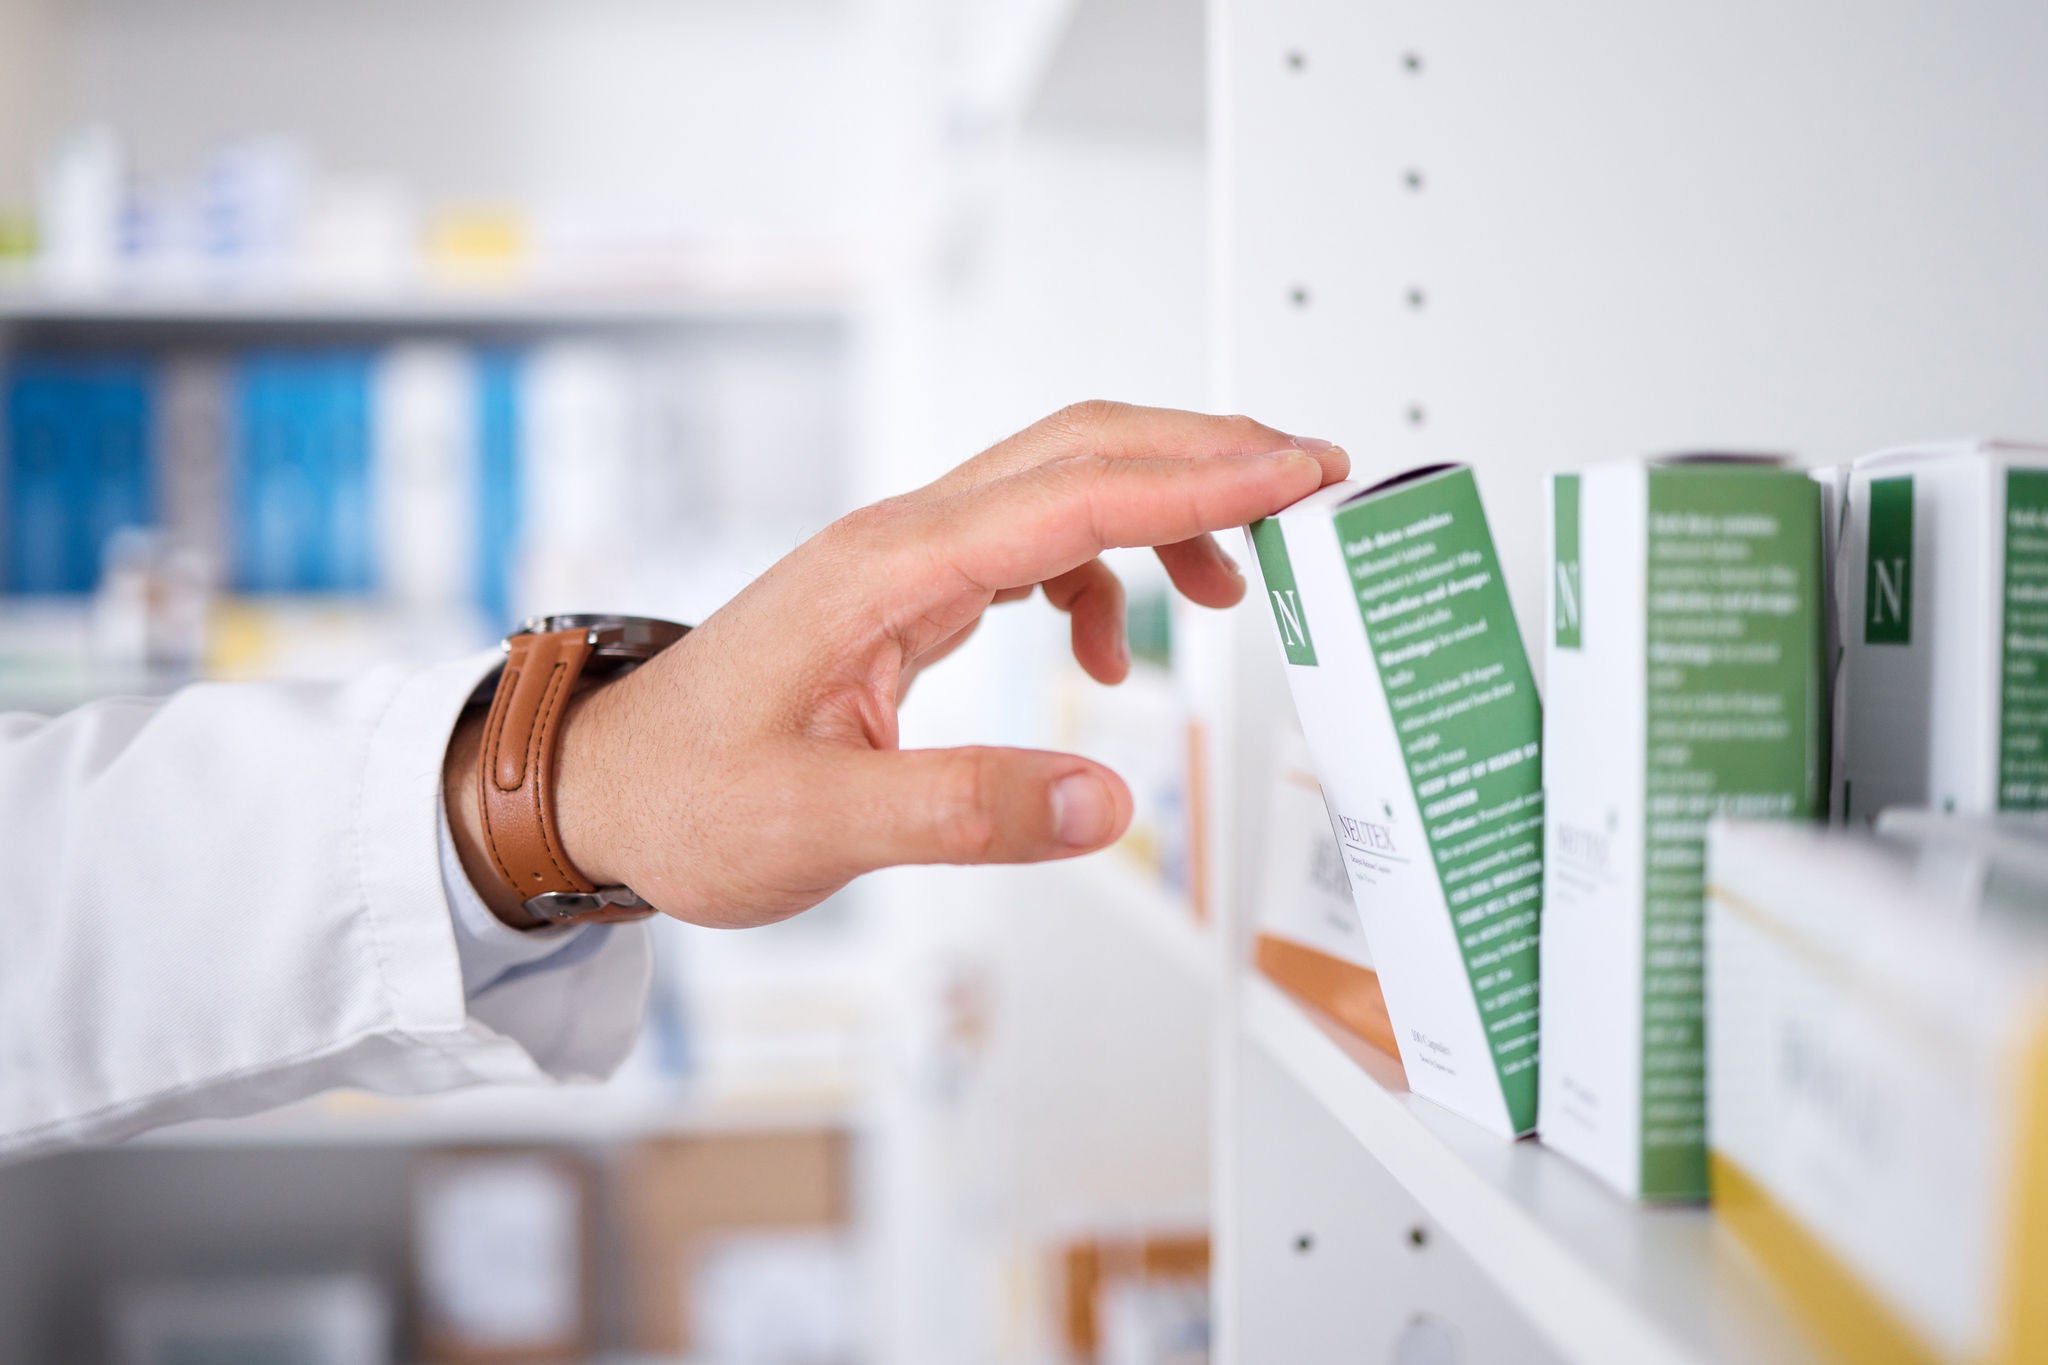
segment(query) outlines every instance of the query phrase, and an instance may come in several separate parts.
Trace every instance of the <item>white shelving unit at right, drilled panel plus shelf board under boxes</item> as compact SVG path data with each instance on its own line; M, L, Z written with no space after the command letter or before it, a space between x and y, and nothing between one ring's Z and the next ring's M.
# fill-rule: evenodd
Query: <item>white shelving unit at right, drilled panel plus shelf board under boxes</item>
M1538 669L1548 469L2048 432L2048 256L1993 227L2048 213L2034 6L1872 12L1853 43L1812 0L1208 18L1212 407L1370 477L1473 463ZM1243 966L1290 704L1251 610L1194 661L1231 772L1217 1359L1817 1359L1710 1209L1411 1097Z

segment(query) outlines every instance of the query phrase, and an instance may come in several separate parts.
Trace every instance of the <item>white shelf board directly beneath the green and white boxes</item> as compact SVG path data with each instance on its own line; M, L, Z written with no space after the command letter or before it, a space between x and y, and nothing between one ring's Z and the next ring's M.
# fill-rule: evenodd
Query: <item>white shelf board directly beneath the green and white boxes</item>
M1563 1359L1821 1359L1710 1212L1632 1203L1534 1140L1409 1095L1397 1062L1264 978L1245 976L1241 1021Z

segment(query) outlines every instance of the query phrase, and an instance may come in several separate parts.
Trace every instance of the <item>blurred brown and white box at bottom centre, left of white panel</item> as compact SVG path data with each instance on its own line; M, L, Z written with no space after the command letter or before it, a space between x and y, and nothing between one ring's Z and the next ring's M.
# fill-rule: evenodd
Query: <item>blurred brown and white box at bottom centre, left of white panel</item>
M1077 1238L1059 1252L1065 1359L1206 1365L1208 1234Z

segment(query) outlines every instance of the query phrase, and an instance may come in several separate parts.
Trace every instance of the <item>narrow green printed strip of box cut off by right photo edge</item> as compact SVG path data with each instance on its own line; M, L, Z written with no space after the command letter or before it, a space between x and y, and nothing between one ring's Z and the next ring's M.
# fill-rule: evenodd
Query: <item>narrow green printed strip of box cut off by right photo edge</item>
M2048 469L2005 475L1999 810L2048 810Z

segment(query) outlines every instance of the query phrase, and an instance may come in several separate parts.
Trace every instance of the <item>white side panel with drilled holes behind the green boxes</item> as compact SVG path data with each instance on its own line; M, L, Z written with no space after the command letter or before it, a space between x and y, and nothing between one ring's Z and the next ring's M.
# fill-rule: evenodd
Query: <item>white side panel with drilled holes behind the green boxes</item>
M1217 403L1368 477L1473 463L1528 639L1546 469L2048 436L2048 6L1210 8ZM1241 630L1247 792L1286 704L1257 651ZM1221 1359L1384 1359L1423 1302L1386 1277L1405 1195L1255 1054L1223 1064ZM1321 1271L1272 1222L1315 1197L1358 1246Z

